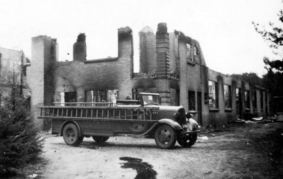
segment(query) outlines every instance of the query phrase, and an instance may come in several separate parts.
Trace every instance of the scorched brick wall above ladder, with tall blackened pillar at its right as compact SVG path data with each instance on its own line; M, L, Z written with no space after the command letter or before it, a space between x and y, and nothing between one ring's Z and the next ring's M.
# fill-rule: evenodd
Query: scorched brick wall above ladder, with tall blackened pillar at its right
M118 57L86 61L58 62L55 91L77 91L77 102L85 102L85 91L119 90L118 98L131 96L131 29L120 29Z

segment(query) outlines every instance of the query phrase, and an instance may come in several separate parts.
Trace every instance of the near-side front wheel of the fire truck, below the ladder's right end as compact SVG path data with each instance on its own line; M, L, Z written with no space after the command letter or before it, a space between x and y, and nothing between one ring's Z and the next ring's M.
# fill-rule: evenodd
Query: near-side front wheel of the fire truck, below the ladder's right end
M177 133L168 125L157 127L154 133L154 140L161 149L171 149L177 141Z

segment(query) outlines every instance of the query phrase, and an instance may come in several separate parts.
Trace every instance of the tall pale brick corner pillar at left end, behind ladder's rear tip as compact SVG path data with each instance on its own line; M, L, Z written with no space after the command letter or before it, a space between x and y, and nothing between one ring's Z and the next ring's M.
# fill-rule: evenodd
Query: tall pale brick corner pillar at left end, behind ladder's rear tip
M56 40L47 36L32 38L32 64L27 67L27 84L30 87L30 109L35 117L35 123L44 129L43 121L36 118L39 115L38 106L52 105L53 102L53 70L58 60L58 45Z

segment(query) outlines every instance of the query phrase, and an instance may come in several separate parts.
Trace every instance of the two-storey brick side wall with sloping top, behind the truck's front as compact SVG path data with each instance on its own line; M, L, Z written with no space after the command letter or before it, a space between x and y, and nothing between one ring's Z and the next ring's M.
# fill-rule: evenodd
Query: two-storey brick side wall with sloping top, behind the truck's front
M189 107L189 99L188 99L188 91L195 92L195 111L198 111L198 103L201 103L201 115L195 113L192 117L198 123L206 126L209 123L209 119L206 117L208 113L207 104L204 103L204 93L208 91L208 84L207 84L207 68L205 67L204 58L202 61L198 61L196 59L201 58L201 53L199 53L198 58L194 58L193 61L187 59L187 44L191 43L192 41L188 40L189 37L184 36L181 32L176 33L175 35L178 36L178 47L175 47L177 51L177 60L176 60L176 71L179 73L180 76L180 104L188 110ZM200 48L199 48L200 49ZM191 48L192 50L192 48ZM192 54L192 53L190 53ZM178 64L179 63L179 64ZM179 69L178 69L179 68ZM198 92L201 94L201 101L198 101ZM193 112L193 111L192 111ZM202 119L201 119L202 118Z

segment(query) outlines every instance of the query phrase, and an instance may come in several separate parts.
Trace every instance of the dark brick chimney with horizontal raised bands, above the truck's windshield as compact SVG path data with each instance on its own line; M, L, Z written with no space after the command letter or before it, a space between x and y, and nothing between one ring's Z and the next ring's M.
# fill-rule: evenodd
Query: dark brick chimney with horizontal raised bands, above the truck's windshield
M156 31L156 78L170 78L169 48L166 23L159 23Z

